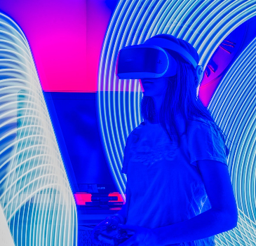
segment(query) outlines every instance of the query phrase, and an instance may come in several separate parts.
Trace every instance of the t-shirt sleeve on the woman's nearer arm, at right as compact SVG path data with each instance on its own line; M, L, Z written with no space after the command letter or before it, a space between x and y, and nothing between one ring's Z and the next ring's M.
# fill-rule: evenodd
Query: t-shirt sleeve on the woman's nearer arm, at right
M190 163L196 160L217 160L227 165L227 147L215 125L194 121L189 128Z

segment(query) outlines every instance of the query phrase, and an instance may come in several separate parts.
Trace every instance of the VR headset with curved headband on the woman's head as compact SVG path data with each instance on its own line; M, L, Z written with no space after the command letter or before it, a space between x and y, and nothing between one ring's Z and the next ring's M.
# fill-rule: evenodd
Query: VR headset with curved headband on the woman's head
M116 76L119 79L174 76L177 74L177 62L175 55L170 53L180 55L196 69L199 85L203 79L203 67L182 46L160 37L152 37L143 44L126 46L119 50Z

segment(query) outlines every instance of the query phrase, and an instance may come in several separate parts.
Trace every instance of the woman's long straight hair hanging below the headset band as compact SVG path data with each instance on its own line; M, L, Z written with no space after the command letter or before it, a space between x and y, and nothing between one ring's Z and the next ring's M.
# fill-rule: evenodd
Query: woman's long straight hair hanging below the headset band
M175 43L179 44L187 50L194 60L196 60L198 64L198 53L191 46L190 43L184 41L182 39L177 39L172 35L168 34L159 34L156 35L158 37L163 37L165 39L170 39ZM173 52L172 50L168 50L175 60L177 61L177 74L172 77L168 77L168 86L166 88L165 95L163 97L163 103L160 109L159 121L164 130L168 133L171 141L175 141L177 139L178 146L180 146L180 132L177 128L177 121L175 121L175 116L180 114L182 118L185 120L186 130L183 134L187 133L187 125L189 120L194 121L202 121L206 123L208 120L214 123L217 127L217 130L220 132L222 140L224 143L226 142L224 139L224 132L220 129L220 127L215 123L211 112L209 109L203 106L203 103L196 97L196 87L198 85L198 79L196 77L196 70L194 67L185 61L180 55ZM141 116L144 121L152 121L155 116L155 109L154 109L154 101L149 96L143 96L142 101L140 102L140 111ZM168 124L169 129L166 126ZM175 137L175 139L174 139ZM226 154L229 155L229 149L227 148L226 144Z

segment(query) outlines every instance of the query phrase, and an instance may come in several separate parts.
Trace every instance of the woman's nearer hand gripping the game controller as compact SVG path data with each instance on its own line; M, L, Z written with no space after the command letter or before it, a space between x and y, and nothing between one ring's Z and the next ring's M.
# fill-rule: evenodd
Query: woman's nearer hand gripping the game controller
M159 238L154 232L154 229L121 224L119 224L118 227L135 232L130 238L128 238L128 240L122 242L119 246L162 246L159 242Z

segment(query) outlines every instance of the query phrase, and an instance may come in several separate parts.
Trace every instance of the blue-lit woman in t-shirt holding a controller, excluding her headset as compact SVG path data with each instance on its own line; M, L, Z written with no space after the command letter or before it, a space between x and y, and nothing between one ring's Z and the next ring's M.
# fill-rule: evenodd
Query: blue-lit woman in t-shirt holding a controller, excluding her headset
M198 64L187 41L154 37L182 46ZM196 97L194 67L168 51L177 74L140 79L144 121L126 140L126 204L115 217L134 235L120 246L215 245L214 235L238 219L223 132Z

